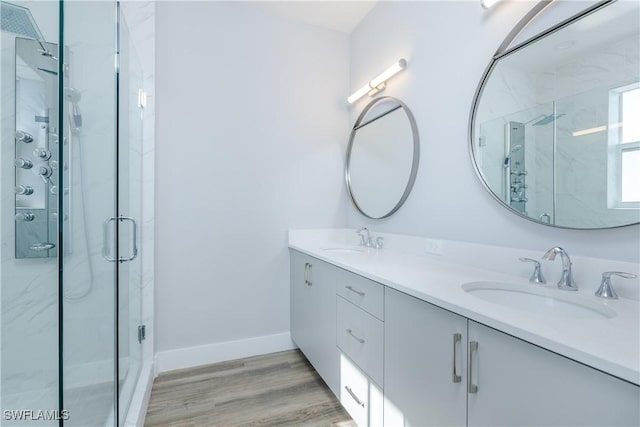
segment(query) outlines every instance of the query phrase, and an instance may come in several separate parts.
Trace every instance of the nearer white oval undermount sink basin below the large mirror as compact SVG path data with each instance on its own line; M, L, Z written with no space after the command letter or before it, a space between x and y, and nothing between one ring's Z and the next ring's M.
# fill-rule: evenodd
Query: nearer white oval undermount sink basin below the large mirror
M470 282L462 289L474 297L507 308L534 312L541 316L561 316L576 319L603 319L616 316L615 310L596 301L556 289L525 287L510 283ZM566 295L558 294L563 292Z

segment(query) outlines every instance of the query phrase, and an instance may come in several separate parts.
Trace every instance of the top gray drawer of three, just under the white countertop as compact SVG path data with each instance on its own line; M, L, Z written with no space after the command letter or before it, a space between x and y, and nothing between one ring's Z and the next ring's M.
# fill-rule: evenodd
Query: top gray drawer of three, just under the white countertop
M336 293L380 320L384 320L384 286L357 274L340 270Z

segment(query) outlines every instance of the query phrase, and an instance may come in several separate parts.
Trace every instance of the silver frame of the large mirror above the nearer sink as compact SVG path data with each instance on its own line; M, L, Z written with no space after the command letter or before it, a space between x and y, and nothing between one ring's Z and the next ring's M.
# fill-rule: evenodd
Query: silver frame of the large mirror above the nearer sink
M507 56L517 50L520 50L534 42L536 42L539 39L542 39L546 36L548 36L551 33L554 33L570 24L572 24L575 21L578 21L580 19L582 19L583 17L590 15L606 6L608 6L611 3L616 2L617 0L604 0L604 1L600 1L598 3L596 3L595 5L585 9L584 11L550 27L549 29L547 29L546 31L543 31L542 33L531 37L528 40L525 40L521 43L518 43L517 45L510 47L511 44L513 43L513 41L516 39L516 37L518 37L518 35L520 33L522 33L522 31L527 27L527 25L529 25L529 23L531 23L531 21L533 21L536 16L538 16L543 10L545 10L549 5L551 5L551 3L553 3L554 0L541 0L538 3L536 3L536 5L533 7L533 9L531 9L517 24L516 26L511 30L511 32L507 35L507 37L505 38L505 40L500 44L500 46L498 47L498 50L496 51L496 53L493 55L493 57L491 58L491 61L489 62L489 65L487 66L487 68L485 69L484 73L482 74L482 77L480 79L480 82L478 83L478 87L476 89L476 92L473 96L473 102L471 104L471 112L469 113L469 129L468 129L468 134L469 134L469 155L471 157L471 163L473 164L473 169L478 177L478 179L480 180L480 182L482 183L482 186L485 188L485 190L487 190L487 192L491 195L491 197L493 197L499 204L500 206L502 206L503 208L505 208L506 210L508 210L509 212L518 215L521 218L524 218L526 220L529 220L531 222L534 222L536 224L541 224L541 225L545 225L547 227L554 227L554 228L563 228L563 229L569 229L569 230L603 230L603 229L611 229L611 228L621 228L621 227L628 227L630 225L637 225L640 224L640 222L635 222L635 223L631 223L631 224L624 224L624 225L616 225L616 226L612 226L612 227L601 227L601 228L580 228L580 227L568 227L568 226L563 226L563 225L557 225L557 224L549 224L546 222L542 222L541 220L537 220L535 218L529 217L527 215L522 214L521 212L518 212L517 210L511 208L509 205L507 205L504 200L502 200L501 197L499 197L487 184L486 180L484 179L484 176L482 174L482 170L480 169L480 165L478 165L478 163L476 162L476 157L477 157L477 152L476 152L476 148L474 145L474 141L473 141L473 137L474 137L474 128L475 128L475 116L476 116L476 112L478 109L478 105L479 105L479 101L480 101L480 97L482 96L482 92L485 86L485 83L487 82L489 75L491 74L491 71L493 70L493 68L495 67L495 65L497 64L497 62L504 56Z

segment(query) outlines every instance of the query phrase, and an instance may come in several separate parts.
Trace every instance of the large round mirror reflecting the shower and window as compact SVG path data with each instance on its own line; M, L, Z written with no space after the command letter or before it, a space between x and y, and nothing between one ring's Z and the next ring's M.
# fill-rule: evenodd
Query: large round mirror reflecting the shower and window
M563 228L640 222L639 7L600 2L519 45L505 41L491 60L471 153L511 211Z

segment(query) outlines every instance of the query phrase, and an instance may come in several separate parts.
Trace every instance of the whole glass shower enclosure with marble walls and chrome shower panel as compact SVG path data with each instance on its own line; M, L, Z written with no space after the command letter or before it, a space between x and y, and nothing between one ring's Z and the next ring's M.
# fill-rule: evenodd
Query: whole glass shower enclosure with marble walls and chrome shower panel
M0 425L124 425L143 75L117 2L2 1Z

